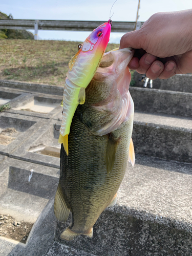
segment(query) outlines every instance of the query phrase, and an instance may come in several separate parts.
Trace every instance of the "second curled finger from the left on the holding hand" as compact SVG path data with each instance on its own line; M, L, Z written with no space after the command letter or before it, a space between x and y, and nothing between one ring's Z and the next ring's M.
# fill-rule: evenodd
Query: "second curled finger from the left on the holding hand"
M155 60L157 60L156 56L145 53L139 60L139 68L137 69L137 72L140 74L146 74L147 70Z

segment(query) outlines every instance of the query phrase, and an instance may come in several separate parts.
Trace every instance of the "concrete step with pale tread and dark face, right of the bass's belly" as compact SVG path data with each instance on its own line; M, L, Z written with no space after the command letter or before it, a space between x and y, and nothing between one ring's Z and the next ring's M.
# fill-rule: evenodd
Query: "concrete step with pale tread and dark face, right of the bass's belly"
M135 152L192 163L192 119L135 112Z

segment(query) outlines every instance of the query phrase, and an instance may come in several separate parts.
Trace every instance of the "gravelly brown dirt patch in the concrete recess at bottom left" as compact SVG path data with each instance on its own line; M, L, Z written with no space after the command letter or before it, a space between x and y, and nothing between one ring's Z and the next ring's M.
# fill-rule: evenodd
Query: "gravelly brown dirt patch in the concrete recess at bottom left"
M9 215L0 215L0 237L26 243L33 224L17 222Z

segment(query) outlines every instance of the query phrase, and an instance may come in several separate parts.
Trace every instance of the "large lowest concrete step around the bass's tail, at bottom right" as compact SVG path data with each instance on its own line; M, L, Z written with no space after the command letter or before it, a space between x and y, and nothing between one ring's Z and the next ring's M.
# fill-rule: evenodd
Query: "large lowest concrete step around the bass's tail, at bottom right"
M129 166L118 191L117 204L103 211L93 227L92 239L60 240L71 218L66 224L54 223L52 198L34 224L25 248L17 244L2 255L190 256L191 191L191 164L136 155L136 164Z

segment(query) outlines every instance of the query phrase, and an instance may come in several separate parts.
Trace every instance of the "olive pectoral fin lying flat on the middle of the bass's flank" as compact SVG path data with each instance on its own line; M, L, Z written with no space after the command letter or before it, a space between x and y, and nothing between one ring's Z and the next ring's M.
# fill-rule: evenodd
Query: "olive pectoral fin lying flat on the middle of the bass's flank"
M115 154L117 151L117 146L120 142L120 138L114 138L112 133L110 134L109 140L108 140L108 145L106 146L106 157L105 157L105 162L106 162L106 172L108 175L110 175L114 163L115 163Z

